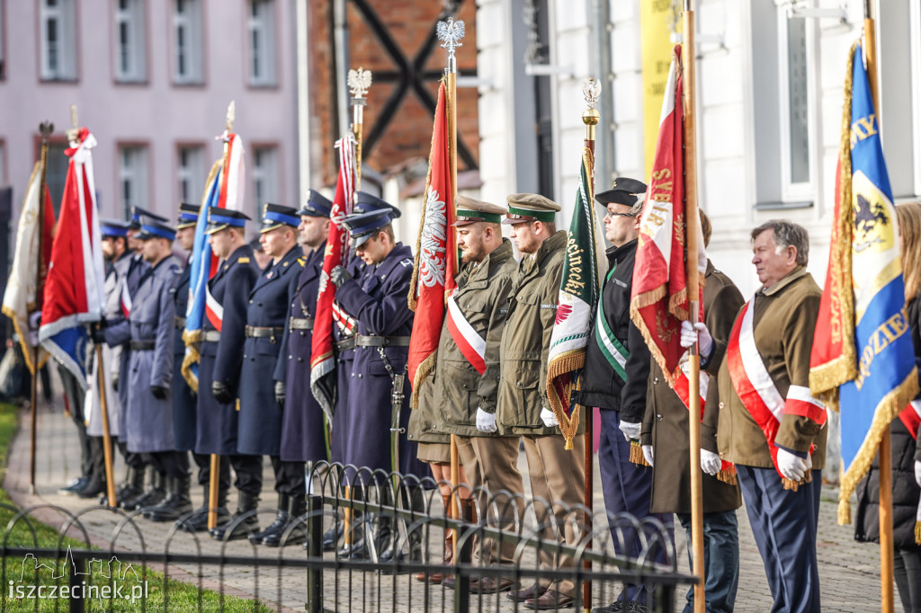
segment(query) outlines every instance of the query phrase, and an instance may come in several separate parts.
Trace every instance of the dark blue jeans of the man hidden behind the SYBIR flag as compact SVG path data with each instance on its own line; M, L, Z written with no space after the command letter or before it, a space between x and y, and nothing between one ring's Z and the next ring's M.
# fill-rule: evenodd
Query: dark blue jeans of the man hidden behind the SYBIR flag
M691 514L676 515L687 535L690 561L694 557ZM731 613L739 590L739 523L735 511L704 514L704 572L706 613ZM688 589L682 613L694 613L694 586Z

